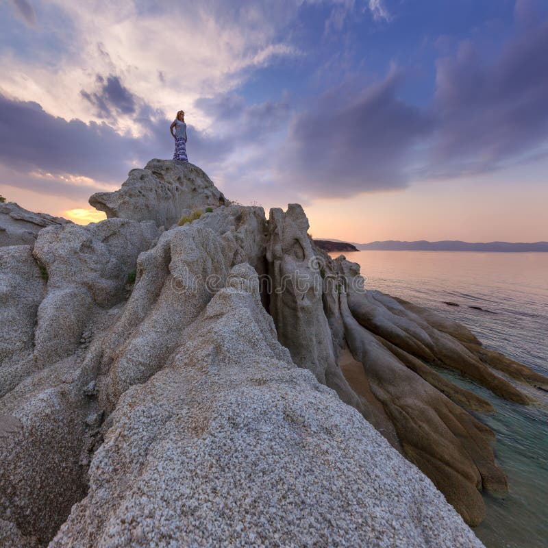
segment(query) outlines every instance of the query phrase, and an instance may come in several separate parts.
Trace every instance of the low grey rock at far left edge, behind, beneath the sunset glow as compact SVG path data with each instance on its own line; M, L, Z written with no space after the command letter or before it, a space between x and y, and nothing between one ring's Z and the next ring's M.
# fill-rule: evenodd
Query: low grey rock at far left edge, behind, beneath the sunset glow
M33 213L14 202L0 203L0 247L32 245L42 228L68 223L71 221L46 213Z

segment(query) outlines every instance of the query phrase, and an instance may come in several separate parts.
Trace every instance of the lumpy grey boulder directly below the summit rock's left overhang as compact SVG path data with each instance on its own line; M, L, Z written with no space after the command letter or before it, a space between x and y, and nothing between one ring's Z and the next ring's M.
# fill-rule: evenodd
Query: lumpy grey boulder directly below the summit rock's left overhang
M136 270L139 253L159 235L151 221L127 219L40 233L34 257L47 273L48 290L38 308L34 335L39 362L70 356L94 316L125 300L125 284Z

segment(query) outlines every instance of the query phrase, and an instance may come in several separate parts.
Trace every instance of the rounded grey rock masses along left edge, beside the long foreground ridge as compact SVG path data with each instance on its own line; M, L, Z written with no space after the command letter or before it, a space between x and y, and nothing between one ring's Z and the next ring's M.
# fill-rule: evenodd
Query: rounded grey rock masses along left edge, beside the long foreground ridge
M158 235L151 222L109 219L47 227L33 250L3 248L0 415L20 427L0 436L0 519L25 538L51 539L86 493L101 423L89 417L102 412L76 383L81 341L108 325Z

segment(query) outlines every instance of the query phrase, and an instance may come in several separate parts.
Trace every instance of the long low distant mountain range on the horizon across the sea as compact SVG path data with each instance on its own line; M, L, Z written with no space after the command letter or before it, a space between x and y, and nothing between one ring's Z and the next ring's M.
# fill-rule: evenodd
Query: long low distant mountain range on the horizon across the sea
M368 244L355 244L362 251L377 249L379 251L548 251L548 242L512 243L512 242L486 242L470 243L460 240L443 240L441 242L400 242L387 240L385 242L370 242Z

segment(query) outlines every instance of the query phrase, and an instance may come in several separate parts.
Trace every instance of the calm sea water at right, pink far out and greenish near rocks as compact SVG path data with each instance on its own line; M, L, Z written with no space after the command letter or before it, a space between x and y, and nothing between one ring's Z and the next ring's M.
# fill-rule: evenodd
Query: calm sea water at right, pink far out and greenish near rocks
M486 347L548 376L548 253L345 255L360 264L366 288L441 312L469 327ZM482 395L497 410L475 416L497 434L495 456L508 475L510 492L503 499L485 497L487 519L475 529L477 536L488 548L548 547L548 393L531 388L540 406L519 406L456 373L440 373Z

